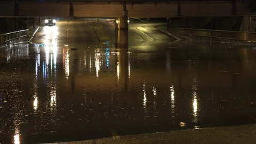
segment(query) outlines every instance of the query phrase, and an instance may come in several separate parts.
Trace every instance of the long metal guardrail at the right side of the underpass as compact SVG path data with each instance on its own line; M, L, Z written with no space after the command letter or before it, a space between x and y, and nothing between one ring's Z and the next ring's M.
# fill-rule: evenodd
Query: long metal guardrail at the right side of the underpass
M175 34L203 36L222 39L233 39L237 41L256 42L256 33L246 31L224 31L224 30L210 30L210 29L188 29L175 28L171 30Z

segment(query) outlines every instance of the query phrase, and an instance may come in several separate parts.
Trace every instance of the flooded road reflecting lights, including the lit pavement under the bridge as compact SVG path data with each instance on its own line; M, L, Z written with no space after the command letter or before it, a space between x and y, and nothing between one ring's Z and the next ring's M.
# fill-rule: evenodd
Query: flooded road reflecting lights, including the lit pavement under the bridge
M39 30L33 41L44 46L0 49L0 143L256 122L254 47L173 42L148 28L155 43L116 49L88 23L69 22Z

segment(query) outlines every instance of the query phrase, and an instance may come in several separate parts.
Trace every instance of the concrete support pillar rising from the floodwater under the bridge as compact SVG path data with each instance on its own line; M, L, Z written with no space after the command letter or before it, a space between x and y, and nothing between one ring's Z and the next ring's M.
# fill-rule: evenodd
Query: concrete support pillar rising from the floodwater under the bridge
M118 47L128 48L128 17L118 18L118 33L117 33Z

